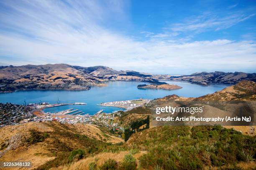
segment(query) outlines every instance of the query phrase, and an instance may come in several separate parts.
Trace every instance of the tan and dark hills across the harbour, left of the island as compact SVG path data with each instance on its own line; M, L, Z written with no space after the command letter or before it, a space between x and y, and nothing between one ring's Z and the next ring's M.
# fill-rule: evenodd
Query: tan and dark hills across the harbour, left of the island
M80 67L67 64L0 67L0 91L13 90L89 90L106 81L143 81L159 83L151 75L135 71L116 71L105 66Z

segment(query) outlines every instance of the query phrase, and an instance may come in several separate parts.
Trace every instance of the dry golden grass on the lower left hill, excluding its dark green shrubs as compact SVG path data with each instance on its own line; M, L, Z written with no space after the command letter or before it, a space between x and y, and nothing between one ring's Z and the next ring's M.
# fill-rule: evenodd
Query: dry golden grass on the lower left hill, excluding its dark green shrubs
M84 134L89 138L95 138L97 140L105 140L109 143L120 143L123 139L115 136L103 133L97 125L88 124L64 124L61 125L59 122L28 122L20 125L9 125L0 128L0 144L8 142L8 148L0 150L2 157L0 161L31 161L33 168L37 168L49 160L54 159L52 151L49 148L52 147L52 138L46 138L43 142L24 145L26 139L30 137L29 130L36 130L41 133L52 133L55 129L60 131ZM72 148L73 146L82 147L77 140L68 140L62 136L58 137L58 140L64 145ZM0 154L1 154L0 153Z

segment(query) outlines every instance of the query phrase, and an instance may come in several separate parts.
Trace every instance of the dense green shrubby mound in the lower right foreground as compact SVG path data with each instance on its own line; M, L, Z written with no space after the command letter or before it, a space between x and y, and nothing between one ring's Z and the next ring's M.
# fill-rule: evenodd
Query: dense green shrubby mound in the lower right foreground
M203 169L254 161L256 138L221 126L159 127L135 134L128 144L148 153L139 158L144 169ZM231 169L232 169L231 168ZM255 167L254 167L255 168Z

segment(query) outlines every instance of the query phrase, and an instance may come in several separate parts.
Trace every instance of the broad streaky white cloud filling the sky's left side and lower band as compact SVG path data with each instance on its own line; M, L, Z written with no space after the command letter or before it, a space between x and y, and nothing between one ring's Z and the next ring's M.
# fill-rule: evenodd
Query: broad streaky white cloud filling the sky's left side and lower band
M5 28L0 31L1 63L105 65L151 73L255 70L253 41L161 39L175 37L175 32L141 32L151 38L138 41L107 28L104 23L108 20L118 20L119 16L127 19L121 1L111 1L108 8L94 0L67 1L69 5L59 1L19 2L7 1L5 5L13 11L0 11L0 25ZM181 25L179 29L207 28L196 25L200 22L192 23L194 26Z

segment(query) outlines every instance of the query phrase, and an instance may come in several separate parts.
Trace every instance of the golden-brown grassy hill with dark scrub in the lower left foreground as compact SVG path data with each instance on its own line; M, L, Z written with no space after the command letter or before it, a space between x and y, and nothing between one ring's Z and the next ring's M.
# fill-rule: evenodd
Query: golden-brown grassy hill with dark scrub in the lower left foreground
M56 162L62 154L78 148L120 143L97 125L28 122L0 128L0 161L32 161L33 168L48 161Z

